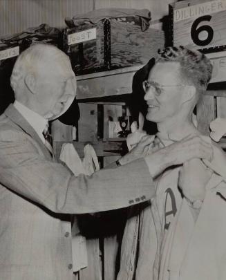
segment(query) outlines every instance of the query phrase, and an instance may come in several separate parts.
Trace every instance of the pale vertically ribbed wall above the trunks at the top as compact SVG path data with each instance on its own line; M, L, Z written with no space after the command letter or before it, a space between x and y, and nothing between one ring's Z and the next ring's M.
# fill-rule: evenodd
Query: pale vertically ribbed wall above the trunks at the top
M175 0L174 0L175 1ZM154 28L173 0L0 0L0 37L31 26L64 26L64 18L99 8L147 8Z

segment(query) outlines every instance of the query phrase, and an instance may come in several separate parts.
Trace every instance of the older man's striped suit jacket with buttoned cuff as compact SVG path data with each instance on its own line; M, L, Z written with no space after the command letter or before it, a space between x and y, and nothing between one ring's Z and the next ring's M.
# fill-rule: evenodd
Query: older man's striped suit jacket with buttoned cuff
M126 207L151 198L144 160L92 176L55 162L11 104L0 116L0 279L73 279L68 214Z

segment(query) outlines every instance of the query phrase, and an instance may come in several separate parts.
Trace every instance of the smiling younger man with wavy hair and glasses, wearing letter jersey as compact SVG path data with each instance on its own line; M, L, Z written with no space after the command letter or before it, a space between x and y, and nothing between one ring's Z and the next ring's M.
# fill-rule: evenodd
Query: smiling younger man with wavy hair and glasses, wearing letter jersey
M159 131L153 151L200 135L192 113L211 70L198 51L182 46L160 51L143 82L146 118ZM211 164L192 159L156 178L156 196L130 213L117 280L226 279L225 166L225 153L214 147Z

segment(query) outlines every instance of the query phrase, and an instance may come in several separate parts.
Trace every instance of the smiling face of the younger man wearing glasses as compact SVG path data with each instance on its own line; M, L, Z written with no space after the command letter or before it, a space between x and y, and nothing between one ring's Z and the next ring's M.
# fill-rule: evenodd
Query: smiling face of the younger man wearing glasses
M147 120L164 122L176 117L182 105L182 81L178 62L157 62L143 83L148 105Z

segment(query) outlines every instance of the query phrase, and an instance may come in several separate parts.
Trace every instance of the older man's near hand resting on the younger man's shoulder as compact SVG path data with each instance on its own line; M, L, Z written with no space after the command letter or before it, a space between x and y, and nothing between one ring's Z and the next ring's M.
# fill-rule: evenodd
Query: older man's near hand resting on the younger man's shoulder
M182 165L192 158L205 158L209 161L213 158L211 140L205 136L188 136L180 142L175 142L167 147L159 149L146 157L151 176L156 177L167 167Z

